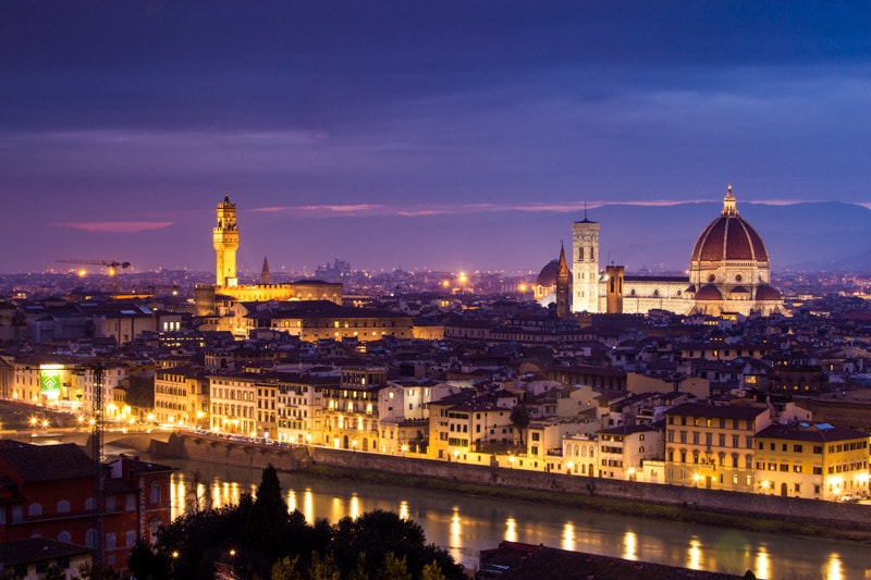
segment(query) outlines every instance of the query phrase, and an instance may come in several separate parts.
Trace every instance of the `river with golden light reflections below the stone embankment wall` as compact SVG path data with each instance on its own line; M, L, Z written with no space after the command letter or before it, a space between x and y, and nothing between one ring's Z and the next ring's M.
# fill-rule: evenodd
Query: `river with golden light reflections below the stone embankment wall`
M167 460L173 477L173 510L180 515L193 485L218 507L255 494L261 470L206 462ZM822 539L793 539L740 530L613 516L535 504L467 497L443 492L333 481L305 474L280 474L291 509L309 522L335 522L373 509L396 511L417 521L427 541L451 552L467 567L480 550L502 540L544 544L627 559L655 562L699 570L786 580L871 579L871 548Z

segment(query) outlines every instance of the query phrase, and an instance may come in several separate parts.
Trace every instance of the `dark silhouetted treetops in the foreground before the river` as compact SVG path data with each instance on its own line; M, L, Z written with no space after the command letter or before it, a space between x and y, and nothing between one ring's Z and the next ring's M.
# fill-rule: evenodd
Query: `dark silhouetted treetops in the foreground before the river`
M161 529L154 551L137 545L130 566L137 578L152 580L211 579L218 568L231 568L238 578L269 578L272 565L285 557L298 558L296 569L304 575L317 557L334 563L343 578L365 562L369 578L376 578L389 553L404 558L414 578L432 562L446 578L464 578L447 552L426 544L419 525L396 514L377 510L335 526L326 520L311 526L298 510L289 514L278 474L268 467L256 499L243 495L236 506L177 518Z

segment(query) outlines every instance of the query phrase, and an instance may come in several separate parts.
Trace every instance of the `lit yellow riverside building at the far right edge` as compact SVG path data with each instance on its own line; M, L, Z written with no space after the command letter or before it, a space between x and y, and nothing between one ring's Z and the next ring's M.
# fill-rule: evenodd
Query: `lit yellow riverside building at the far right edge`
M756 436L757 492L837 501L868 494L868 435L829 423L772 424Z

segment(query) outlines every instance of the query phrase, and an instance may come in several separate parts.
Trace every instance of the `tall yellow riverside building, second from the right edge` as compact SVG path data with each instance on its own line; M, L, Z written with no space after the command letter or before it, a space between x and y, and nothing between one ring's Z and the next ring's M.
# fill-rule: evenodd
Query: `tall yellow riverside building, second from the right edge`
M755 437L765 406L684 403L665 412L665 483L752 493Z

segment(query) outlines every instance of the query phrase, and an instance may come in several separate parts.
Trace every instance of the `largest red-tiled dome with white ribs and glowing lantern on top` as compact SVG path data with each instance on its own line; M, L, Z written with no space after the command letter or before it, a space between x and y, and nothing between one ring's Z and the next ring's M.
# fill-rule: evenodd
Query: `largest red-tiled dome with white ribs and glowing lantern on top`
M723 199L723 211L699 235L690 259L694 262L769 261L762 238L744 218L738 215L731 185Z

